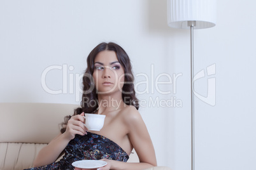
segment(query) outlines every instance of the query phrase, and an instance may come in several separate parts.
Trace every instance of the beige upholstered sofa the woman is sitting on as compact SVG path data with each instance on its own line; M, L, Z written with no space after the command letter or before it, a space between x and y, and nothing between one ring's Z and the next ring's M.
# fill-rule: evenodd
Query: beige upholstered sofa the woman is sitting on
M57 103L0 103L0 169L32 167L39 150L59 133L60 122L64 116L72 115L76 107ZM138 162L136 153L130 155L129 162Z

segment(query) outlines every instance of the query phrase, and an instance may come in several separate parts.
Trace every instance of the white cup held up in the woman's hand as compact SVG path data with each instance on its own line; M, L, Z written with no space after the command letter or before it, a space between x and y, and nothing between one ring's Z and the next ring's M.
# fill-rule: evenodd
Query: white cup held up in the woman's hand
M85 114L85 127L90 131L100 131L104 125L106 115Z

